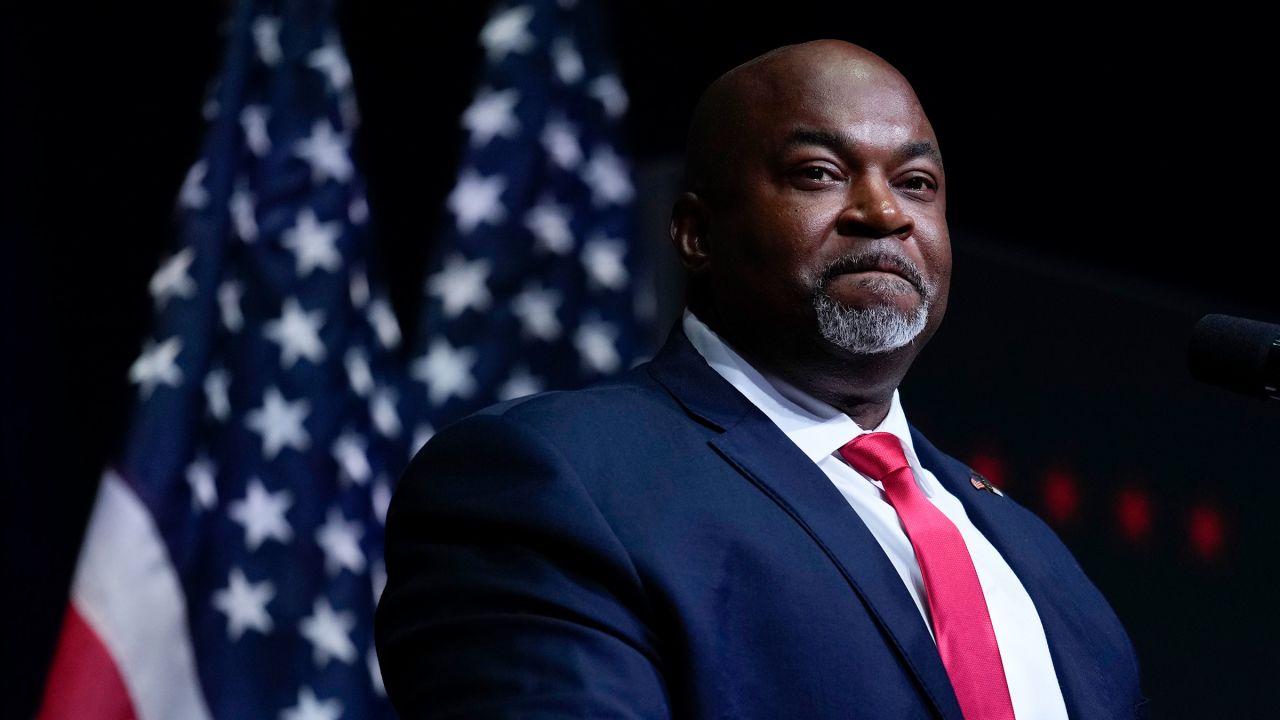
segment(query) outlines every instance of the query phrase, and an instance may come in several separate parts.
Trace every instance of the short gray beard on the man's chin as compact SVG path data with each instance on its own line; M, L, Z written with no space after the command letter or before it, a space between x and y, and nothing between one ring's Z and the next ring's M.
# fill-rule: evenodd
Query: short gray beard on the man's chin
M929 320L929 305L922 299L915 310L904 313L892 305L846 307L823 292L813 300L822 337L858 355L888 352L915 340Z

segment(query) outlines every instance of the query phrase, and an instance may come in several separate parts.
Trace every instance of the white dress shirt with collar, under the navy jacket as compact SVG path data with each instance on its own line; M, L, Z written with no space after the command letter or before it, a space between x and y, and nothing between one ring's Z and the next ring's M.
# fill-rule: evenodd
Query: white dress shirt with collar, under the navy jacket
M897 511L890 505L878 482L854 470L837 454L840 447L865 432L893 433L901 441L920 489L960 529L973 557L978 582L987 597L991 624L996 630L1014 714L1019 720L1065 720L1066 705L1053 673L1053 660L1036 605L1005 559L969 521L960 501L942 487L933 473L920 466L897 391L893 391L888 415L879 427L864 430L840 410L751 366L689 310L685 310L684 329L712 369L773 420L840 489L884 548L884 555L902 578L932 634L924 579Z

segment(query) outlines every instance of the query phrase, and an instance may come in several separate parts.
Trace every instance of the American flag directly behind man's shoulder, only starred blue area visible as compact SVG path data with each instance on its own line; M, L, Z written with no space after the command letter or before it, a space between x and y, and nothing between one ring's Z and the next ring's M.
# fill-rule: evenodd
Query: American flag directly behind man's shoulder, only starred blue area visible
M498 4L480 32L467 149L410 366L435 427L614 374L646 350L627 95L598 5Z

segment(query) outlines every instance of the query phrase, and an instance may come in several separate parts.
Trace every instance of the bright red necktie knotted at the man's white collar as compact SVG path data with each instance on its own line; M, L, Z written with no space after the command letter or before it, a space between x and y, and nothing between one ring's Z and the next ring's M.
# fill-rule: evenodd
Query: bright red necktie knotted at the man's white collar
M1005 665L960 530L911 475L902 445L892 433L865 433L840 448L859 473L879 480L897 511L924 575L933 637L966 720L1014 720Z

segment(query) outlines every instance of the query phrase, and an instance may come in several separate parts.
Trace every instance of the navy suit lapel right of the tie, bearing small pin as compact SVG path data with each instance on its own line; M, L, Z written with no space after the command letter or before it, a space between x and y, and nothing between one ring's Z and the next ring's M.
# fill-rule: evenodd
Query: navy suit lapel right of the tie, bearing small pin
M969 520L1000 551L1036 605L1068 715L1097 716L1088 691L1106 687L1106 682L1096 648L1087 643L1089 630L1080 624L1088 614L1079 607L1075 593L1062 592L1066 571L1055 566L1062 561L1059 553L1044 552L1039 521L1007 497L974 488L973 470L940 452L915 428L911 439L920 464L960 498Z

